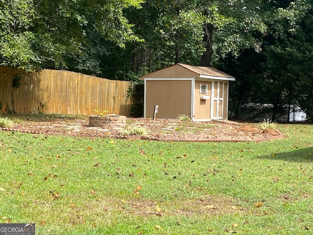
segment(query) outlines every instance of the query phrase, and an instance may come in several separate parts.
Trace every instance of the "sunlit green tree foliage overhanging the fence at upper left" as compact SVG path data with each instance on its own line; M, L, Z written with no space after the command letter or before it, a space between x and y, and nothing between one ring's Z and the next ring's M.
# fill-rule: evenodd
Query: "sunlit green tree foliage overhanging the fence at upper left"
M0 62L34 69L67 68L84 57L96 32L103 41L125 47L139 40L123 14L142 0L0 0ZM100 39L100 40L101 40Z

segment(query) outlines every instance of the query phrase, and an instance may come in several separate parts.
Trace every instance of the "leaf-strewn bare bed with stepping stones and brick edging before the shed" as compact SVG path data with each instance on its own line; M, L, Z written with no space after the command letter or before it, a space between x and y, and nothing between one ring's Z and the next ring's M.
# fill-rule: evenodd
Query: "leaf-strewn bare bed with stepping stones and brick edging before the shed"
M88 118L23 121L22 123L15 123L10 129L0 129L32 134L141 139L148 141L239 142L283 138L283 135L277 130L262 132L250 124L233 121L183 122L179 120L128 118L127 125L143 127L147 129L147 134L145 136L121 136L119 134L120 128L90 127Z

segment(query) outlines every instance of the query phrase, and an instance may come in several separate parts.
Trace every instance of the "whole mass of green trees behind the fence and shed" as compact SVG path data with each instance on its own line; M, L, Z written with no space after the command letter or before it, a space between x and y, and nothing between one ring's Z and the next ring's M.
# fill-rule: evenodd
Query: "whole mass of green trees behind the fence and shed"
M312 0L0 0L0 64L136 81L174 63L236 77L241 104L313 118Z

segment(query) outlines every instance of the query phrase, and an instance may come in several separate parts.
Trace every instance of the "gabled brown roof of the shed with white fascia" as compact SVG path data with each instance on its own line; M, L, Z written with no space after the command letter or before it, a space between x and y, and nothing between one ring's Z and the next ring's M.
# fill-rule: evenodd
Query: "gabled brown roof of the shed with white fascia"
M194 78L194 77L235 81L235 78L233 76L228 75L217 69L185 64L175 64L165 69L148 73L146 75L139 77L139 80L144 80L144 78Z

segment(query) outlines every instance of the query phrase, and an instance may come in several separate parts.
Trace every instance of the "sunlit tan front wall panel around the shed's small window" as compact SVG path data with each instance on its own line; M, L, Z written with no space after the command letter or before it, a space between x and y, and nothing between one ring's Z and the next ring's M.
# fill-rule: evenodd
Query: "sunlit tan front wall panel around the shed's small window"
M207 95L210 96L210 99L201 99L200 94L200 84L201 85L208 85L208 93ZM211 117L211 90L212 90L212 82L210 81L195 81L195 113L194 119L210 119Z

